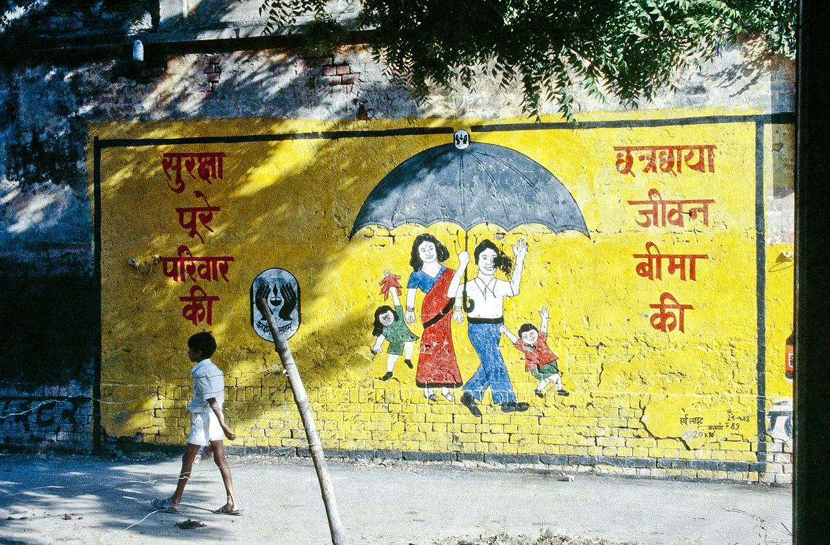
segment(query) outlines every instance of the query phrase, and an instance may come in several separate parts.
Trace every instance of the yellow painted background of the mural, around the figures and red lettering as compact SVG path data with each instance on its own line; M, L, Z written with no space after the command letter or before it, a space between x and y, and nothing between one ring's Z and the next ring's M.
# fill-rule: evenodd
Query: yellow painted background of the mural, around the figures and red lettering
M655 118L735 114L721 110L650 113ZM747 112L737 112L747 114ZM751 112L750 112L751 113ZM643 119L643 113L597 114L588 120ZM525 119L514 120L525 123ZM539 324L550 309L549 347L559 356L569 397L549 390L535 397L537 381L521 354L502 338L510 379L524 413L503 414L487 395L484 416L458 401L430 402L414 370L398 362L395 378L381 381L387 355L373 356L374 309L381 304L384 270L412 271L409 253L428 231L447 245L445 265L457 268L464 232L451 223L393 231L366 227L349 240L369 192L398 164L448 144L452 134L361 136L361 131L410 127L470 129L469 119L378 120L324 124L280 119L94 124L100 139L171 139L200 136L308 134L352 130L340 139L288 139L232 144L140 145L101 151L101 290L103 425L110 436L159 444L186 440L190 399L187 338L212 331L213 361L226 374L226 417L239 439L233 445L304 445L304 435L272 345L249 322L251 281L262 270L290 270L301 289L302 325L291 348L327 448L420 450L480 454L586 455L671 460L753 462L758 450L756 322L755 125L674 124L658 127L576 128L471 132L477 142L512 148L553 173L578 203L590 238L554 234L539 225L504 232L480 225L469 232L470 251L483 237L510 246L525 238L530 252L518 296L505 301L505 325ZM715 144L715 172L679 174L615 168L614 146ZM767 144L765 144L767 145ZM174 193L162 153L222 152L221 180L207 184L185 175ZM768 148L769 152L769 148ZM769 155L769 153L767 153ZM91 154L90 154L91 155ZM90 172L92 172L90 163ZM766 171L772 167L765 166ZM768 184L772 175L767 176ZM638 226L637 206L658 188L664 199L712 199L709 225L686 216L685 226ZM176 207L199 206L193 190L221 207L204 244L178 225ZM90 184L90 191L92 190ZM503 237L503 238L502 238ZM666 271L662 280L636 273L632 255L653 242L663 254L705 254L696 280ZM179 245L193 255L232 256L228 280L200 283L213 304L212 325L182 316L179 297L192 282L173 282L154 255L173 257ZM765 361L768 396L785 396L783 340L792 321L792 269L776 269L791 245L766 245ZM132 264L132 265L130 265ZM471 276L476 267L471 266ZM671 293L686 310L685 332L652 327L650 304ZM405 297L405 292L404 292ZM420 309L418 295L416 309ZM789 313L789 314L788 314ZM420 323L411 326L421 335ZM465 325L453 325L461 376L479 364ZM416 358L417 361L417 343ZM551 387L552 388L552 387ZM456 397L461 389L456 390ZM769 406L770 403L767 405ZM694 420L700 419L700 420ZM671 472L671 470L666 470ZM717 472L701 472L718 476Z

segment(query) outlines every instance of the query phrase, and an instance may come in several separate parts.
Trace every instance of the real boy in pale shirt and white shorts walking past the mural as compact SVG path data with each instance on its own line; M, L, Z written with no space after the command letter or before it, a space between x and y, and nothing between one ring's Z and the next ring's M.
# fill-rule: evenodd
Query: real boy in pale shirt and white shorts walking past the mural
M219 367L210 361L214 352L216 352L216 340L210 333L196 333L188 338L188 358L196 363L190 370L190 374L193 375L193 401L190 401L188 405L188 410L192 413L188 449L182 456L182 471L178 475L176 491L167 499L156 498L151 502L155 509L161 509L165 513L178 513L182 510L182 494L184 485L188 484L190 472L193 470L193 460L196 459L199 449L210 444L213 450L213 461L219 467L219 473L222 474L222 482L227 492L227 502L213 513L242 514L242 509L238 509L237 502L233 499L231 468L228 467L225 452L222 450L222 434L229 440L234 440L237 436L233 434L222 417L225 379Z

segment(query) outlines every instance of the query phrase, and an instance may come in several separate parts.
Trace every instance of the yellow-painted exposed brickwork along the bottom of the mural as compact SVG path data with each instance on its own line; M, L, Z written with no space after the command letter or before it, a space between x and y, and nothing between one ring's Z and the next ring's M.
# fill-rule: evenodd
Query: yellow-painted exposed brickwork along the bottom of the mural
M291 392L285 386L248 379L229 387L226 414L239 439L229 449L237 452L273 452L307 456L308 449ZM189 387L159 388L153 426L142 440L168 445L185 440L189 416ZM657 439L642 433L642 423L621 418L621 412L642 414L642 409L593 406L545 406L542 411L567 416L540 415L539 411L503 415L485 409L481 423L472 423L458 404L421 402L421 392L388 389L309 390L326 455L356 459L408 460L518 467L542 470L593 471L671 479L733 479L789 484L790 454L769 452L768 464L758 461L757 443L719 441L688 450L680 439ZM263 413L253 401L272 404ZM631 397L639 404L640 397ZM567 411L564 411L567 409ZM518 431L532 426L533 433ZM561 426L584 426L584 436L565 436ZM641 431L641 433L637 433ZM594 436L590 436L594 434ZM645 435L645 436L643 436ZM241 443L242 445L239 445ZM611 447L605 445L613 445ZM775 447L772 447L775 448ZM781 450L792 450L781 445Z

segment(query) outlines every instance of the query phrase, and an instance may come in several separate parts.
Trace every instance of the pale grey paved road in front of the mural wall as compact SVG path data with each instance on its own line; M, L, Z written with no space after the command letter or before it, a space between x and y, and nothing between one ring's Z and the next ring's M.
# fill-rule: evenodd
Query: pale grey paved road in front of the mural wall
M231 463L242 517L211 512L224 495L212 461L195 467L187 510L168 514L153 513L149 501L173 491L176 458L0 456L0 543L330 543L310 460L246 456ZM499 532L649 545L790 542L791 490L763 484L594 474L563 481L558 474L405 462L331 461L330 472L354 545L431 545ZM176 526L188 518L205 526Z

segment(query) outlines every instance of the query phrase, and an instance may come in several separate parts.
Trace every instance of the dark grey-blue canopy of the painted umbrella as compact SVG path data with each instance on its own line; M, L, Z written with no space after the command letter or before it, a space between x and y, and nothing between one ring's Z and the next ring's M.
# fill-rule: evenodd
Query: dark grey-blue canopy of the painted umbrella
M450 221L466 231L492 223L505 231L540 223L551 231L588 227L574 197L539 163L481 142L445 144L408 158L369 193L349 237L364 226Z

